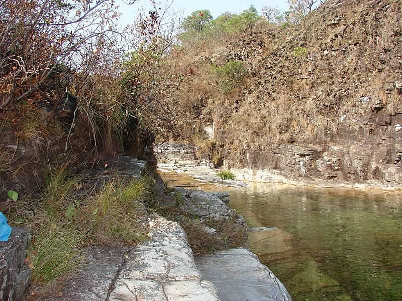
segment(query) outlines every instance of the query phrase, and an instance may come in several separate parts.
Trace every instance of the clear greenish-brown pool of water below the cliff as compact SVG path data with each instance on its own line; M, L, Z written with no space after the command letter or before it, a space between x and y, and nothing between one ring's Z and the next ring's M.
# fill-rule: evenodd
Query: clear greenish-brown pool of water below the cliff
M285 231L256 252L295 301L402 301L400 193L278 184L230 193L250 227Z

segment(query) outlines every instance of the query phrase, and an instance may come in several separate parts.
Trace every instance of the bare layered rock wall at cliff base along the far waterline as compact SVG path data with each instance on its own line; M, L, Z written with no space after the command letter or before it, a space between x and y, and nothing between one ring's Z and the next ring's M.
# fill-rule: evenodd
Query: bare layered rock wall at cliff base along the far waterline
M268 151L247 149L226 161L226 167L234 168L239 178L245 180L288 179L321 186L327 182L329 186L342 183L398 188L402 184L402 111L394 115L368 114L360 122L348 118L344 115L338 133L320 144L273 145ZM353 122L356 124L352 125ZM250 174L244 169L254 172Z

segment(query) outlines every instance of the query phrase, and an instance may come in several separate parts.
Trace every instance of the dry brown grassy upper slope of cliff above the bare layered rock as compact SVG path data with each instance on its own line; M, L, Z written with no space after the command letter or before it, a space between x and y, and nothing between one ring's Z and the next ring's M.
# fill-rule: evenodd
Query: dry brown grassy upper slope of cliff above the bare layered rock
M180 116L175 126L182 131L175 138L196 142L214 124L210 154L216 162L239 162L247 150L329 143L340 123L401 107L397 1L289 4L285 13L265 8L266 20L251 8L182 35L168 58L180 59L182 76L165 100L179 103L172 115ZM233 34L228 27L242 17L251 25ZM246 72L222 81L216 70L232 64Z

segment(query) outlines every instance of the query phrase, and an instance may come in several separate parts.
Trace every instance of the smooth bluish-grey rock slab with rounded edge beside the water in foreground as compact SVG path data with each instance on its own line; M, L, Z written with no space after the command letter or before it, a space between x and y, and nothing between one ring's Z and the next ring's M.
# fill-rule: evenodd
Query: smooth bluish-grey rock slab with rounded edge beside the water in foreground
M222 301L289 301L278 278L246 249L231 249L196 257L203 278L218 288Z

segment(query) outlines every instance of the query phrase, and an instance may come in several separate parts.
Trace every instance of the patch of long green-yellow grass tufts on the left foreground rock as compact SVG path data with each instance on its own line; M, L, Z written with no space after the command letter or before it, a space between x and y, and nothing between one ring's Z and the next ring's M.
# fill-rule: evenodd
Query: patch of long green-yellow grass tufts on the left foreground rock
M28 226L33 238L28 260L32 281L48 284L79 271L84 247L93 243L135 243L146 238L140 205L149 192L149 179L124 182L116 176L97 193L83 197L76 177L65 169L51 170L41 198L22 197L13 204L9 221Z

